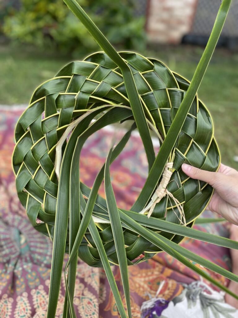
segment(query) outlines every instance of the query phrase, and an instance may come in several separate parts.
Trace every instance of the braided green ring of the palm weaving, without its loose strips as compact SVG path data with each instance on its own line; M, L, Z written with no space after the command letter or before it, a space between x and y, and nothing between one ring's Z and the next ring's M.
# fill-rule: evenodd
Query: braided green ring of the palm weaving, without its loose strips
M133 73L144 112L151 123L150 128L154 126L163 140L180 107L189 81L170 71L156 59L147 59L133 52L119 54ZM87 114L87 110L96 107L101 108L82 117ZM120 112L118 107L121 107ZM40 85L33 93L29 107L17 122L13 168L18 197L33 226L52 239L58 191L55 173L56 145L67 128L72 127L72 131L78 129L80 135L92 125L92 120L95 116L98 118L99 114L103 115L102 120L94 125L96 127L88 130L83 142L103 126L133 119L121 71L104 52L91 54L83 61L69 63L54 78ZM82 120L75 127L72 126L79 118ZM173 173L167 185L167 190L183 209L187 226L192 226L195 218L205 209L213 189L204 182L188 178L182 172L181 165L185 162L216 171L220 164L220 155L213 135L211 116L196 96L171 153ZM66 142L63 144L62 154ZM88 197L89 188L82 184L81 191ZM148 202L150 199L148 198ZM101 198L101 201L102 205L105 204L104 199ZM181 223L176 202L165 195L155 205L151 217ZM104 211L106 209L105 205ZM95 205L93 215L97 216L98 211L100 212L100 206ZM97 229L109 261L118 264L110 224L102 223ZM130 264L159 252L158 247L141 236L127 229L123 230ZM183 239L182 236L169 232L161 231L160 234L176 243ZM66 241L66 252L68 251L69 235ZM139 258L141 254L144 256ZM91 266L102 266L88 230L79 247L79 257Z

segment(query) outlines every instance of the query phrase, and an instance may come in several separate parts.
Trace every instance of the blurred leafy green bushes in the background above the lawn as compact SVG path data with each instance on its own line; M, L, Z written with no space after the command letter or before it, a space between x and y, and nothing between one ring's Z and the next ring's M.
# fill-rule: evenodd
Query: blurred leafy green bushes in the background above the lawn
M113 45L125 50L144 49L145 18L135 16L135 0L77 1ZM72 55L99 50L63 0L3 1L0 6L4 15L2 32L16 43Z

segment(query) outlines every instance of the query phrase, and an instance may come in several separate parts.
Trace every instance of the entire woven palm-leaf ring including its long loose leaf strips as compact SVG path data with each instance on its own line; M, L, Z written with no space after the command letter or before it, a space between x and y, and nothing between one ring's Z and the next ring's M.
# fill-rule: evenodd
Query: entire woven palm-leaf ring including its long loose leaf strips
M191 228L206 208L213 189L204 182L189 179L181 169L184 162L209 171L216 171L220 164L212 119L196 92L230 1L221 4L191 84L157 59L134 52L117 53L75 0L65 2L104 52L69 63L35 90L29 107L17 122L12 159L18 197L28 217L36 230L53 241L48 317L55 317L65 252L69 253L69 262L64 317L75 317L77 256L90 266L104 267L122 317L131 317L127 265L151 258L162 250L232 294L188 259L235 281L236 275L177 245L187 236L238 249L237 242ZM84 142L109 124L131 119L134 125L110 151L92 190L80 183L78 162ZM136 127L150 171L132 211L124 211L116 207L109 165ZM162 143L156 158L149 128ZM173 168L166 189L175 199L163 197L147 218L137 212L150 202L167 162L172 162ZM106 200L97 195L103 178ZM187 226L181 225L177 202ZM110 269L112 264L120 266L126 310Z

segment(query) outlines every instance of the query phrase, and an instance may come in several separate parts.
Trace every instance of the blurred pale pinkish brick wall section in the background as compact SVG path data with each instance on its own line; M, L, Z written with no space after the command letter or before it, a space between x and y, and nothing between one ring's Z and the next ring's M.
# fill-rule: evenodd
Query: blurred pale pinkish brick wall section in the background
M178 44L191 30L197 0L149 0L147 34L151 42Z

